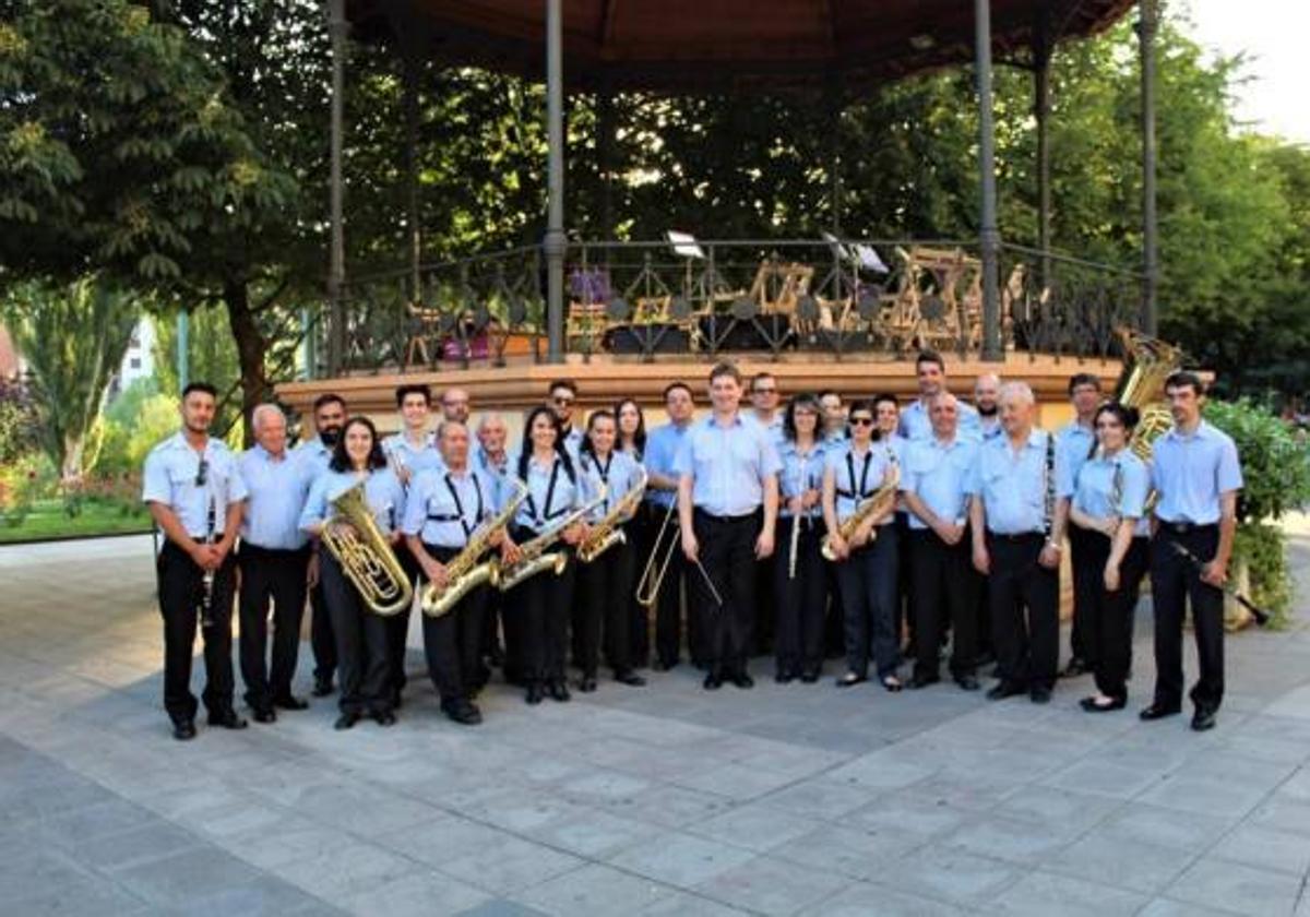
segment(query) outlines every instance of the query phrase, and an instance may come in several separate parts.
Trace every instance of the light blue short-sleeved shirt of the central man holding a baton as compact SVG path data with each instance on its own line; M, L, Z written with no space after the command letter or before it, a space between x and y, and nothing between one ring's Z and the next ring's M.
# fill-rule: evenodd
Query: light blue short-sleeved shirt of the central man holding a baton
M782 469L769 432L738 413L727 426L711 414L692 424L673 473L692 478L692 503L711 516L745 516L764 504L764 482Z

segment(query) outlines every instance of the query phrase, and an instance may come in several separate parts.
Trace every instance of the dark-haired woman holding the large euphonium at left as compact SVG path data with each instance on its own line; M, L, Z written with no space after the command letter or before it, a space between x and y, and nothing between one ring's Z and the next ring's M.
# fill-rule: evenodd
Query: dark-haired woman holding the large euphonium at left
M329 525L347 536L350 524L335 519L331 500L360 482L373 521L392 545L398 544L401 533L396 524L405 512L405 487L383 455L373 422L365 417L354 417L342 428L328 470L309 489L300 528L316 538ZM355 584L322 544L318 565L341 668L341 717L335 727L348 730L365 713L380 726L392 726L396 713L386 618L367 609Z

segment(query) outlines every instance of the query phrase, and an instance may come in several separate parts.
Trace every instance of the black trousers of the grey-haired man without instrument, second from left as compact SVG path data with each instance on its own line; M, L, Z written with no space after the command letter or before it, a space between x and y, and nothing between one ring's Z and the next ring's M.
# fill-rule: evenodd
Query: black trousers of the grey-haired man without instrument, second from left
M271 550L242 541L238 616L241 621L241 680L252 707L267 707L291 697L300 652L300 620L305 613L305 571L309 549ZM272 604L272 669L266 663L269 605Z

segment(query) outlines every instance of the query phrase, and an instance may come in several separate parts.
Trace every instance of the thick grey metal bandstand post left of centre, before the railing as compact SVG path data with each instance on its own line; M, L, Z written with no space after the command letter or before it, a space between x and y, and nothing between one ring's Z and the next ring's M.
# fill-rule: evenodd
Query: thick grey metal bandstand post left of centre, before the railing
M546 1L546 341L550 363L565 352L565 86L562 0Z

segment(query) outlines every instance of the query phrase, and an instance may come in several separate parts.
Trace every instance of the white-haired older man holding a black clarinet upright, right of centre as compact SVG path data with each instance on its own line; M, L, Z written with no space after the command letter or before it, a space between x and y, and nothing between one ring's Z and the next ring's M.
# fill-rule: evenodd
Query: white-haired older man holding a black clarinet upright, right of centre
M1048 703L1060 656L1060 545L1065 507L1056 499L1055 438L1032 426L1026 383L1001 386L1005 436L979 448L969 478L973 566L988 576L998 701L1028 692ZM1027 613L1024 613L1027 612Z

